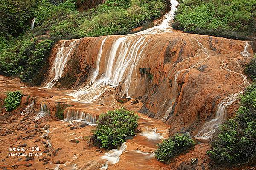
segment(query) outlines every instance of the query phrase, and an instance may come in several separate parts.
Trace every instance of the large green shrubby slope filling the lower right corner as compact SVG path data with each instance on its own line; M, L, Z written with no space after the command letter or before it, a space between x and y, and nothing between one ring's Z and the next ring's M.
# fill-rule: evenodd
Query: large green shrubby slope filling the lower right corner
M220 127L207 153L223 164L245 164L256 161L256 83L241 96L241 106L233 119Z

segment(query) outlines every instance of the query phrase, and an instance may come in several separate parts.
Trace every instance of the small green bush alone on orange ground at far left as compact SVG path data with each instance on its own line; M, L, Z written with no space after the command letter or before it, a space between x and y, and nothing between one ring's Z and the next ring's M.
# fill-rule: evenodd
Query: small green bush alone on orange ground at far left
M4 99L4 107L6 111L15 110L21 102L23 94L20 91L12 91L7 93L7 97Z

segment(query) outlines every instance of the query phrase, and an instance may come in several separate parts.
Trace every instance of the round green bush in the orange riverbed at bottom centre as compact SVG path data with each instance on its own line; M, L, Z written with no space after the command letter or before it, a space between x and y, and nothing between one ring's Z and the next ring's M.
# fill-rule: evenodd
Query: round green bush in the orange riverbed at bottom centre
M133 111L120 108L101 114L94 131L94 142L102 148L116 148L125 142L128 136L134 136L139 116Z

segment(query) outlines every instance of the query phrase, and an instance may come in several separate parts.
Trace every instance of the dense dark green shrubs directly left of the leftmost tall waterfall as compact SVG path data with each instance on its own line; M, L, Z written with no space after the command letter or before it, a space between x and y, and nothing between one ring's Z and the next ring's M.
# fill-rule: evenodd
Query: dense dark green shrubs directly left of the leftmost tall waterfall
M24 82L31 82L46 64L54 41L20 39L10 42L9 48L0 50L0 73L8 76L20 75Z

